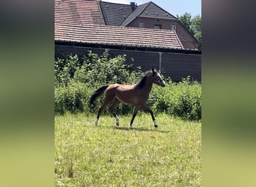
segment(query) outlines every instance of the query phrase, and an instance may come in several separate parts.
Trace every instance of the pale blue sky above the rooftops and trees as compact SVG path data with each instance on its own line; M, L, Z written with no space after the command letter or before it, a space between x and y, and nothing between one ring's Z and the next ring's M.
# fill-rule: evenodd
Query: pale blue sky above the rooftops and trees
M162 9L168 11L173 16L181 16L184 13L191 13L192 16L201 15L201 0L102 0L121 4L135 2L138 5L148 1L153 1Z

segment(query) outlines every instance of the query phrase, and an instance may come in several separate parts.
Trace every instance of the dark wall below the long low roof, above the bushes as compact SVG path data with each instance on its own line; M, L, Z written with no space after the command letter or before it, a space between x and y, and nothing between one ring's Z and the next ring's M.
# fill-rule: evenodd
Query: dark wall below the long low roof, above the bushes
M55 45L56 56L70 55L70 53L82 56L88 54L88 50L99 55L105 52L105 49L100 48ZM109 54L112 56L126 55L127 64L133 64L134 67L140 66L144 72L150 70L151 67L159 70L159 52L109 49ZM133 62L132 58L134 58ZM201 82L201 55L162 52L161 70L165 77L171 77L174 82L179 82L186 76L191 76L192 79Z

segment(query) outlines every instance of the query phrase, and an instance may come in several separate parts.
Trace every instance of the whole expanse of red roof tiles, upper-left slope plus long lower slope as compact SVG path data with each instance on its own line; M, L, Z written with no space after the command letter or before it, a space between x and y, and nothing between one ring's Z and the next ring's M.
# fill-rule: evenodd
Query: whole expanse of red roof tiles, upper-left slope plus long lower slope
M111 46L183 49L171 30L105 25L100 1L55 0L55 40Z

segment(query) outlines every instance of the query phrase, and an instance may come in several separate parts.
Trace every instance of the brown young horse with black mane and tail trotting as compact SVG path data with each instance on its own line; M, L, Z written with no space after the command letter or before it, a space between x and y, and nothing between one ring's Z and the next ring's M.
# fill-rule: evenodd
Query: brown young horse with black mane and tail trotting
M148 70L142 79L135 85L104 85L97 91L94 91L94 93L91 95L90 104L92 104L94 100L97 99L97 97L100 96L104 91L106 95L105 101L98 111L95 125L98 123L101 112L109 105L109 110L115 117L116 125L119 126L119 118L117 114L115 114L114 109L118 107L121 102L123 102L124 104L135 105L132 120L129 123L131 128L133 120L138 112L138 109L140 108L150 112L153 124L155 127L157 127L156 119L153 116L153 111L151 111L151 109L146 105L153 83L165 87L165 82L162 80L159 73L152 68L152 70Z

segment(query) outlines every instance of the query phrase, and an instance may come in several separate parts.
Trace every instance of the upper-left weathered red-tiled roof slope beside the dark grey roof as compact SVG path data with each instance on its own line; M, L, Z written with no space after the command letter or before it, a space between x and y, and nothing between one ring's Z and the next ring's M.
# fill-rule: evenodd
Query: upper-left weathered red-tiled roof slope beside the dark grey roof
M99 1L55 0L55 22L105 25Z

